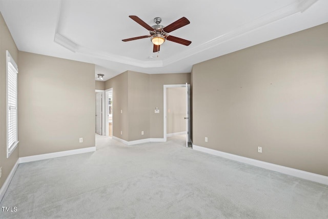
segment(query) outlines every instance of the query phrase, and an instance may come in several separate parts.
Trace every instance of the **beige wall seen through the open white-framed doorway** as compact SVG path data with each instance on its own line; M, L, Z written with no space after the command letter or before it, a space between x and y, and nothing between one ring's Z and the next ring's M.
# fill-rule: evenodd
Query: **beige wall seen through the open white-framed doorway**
M186 130L186 88L167 88L167 133Z

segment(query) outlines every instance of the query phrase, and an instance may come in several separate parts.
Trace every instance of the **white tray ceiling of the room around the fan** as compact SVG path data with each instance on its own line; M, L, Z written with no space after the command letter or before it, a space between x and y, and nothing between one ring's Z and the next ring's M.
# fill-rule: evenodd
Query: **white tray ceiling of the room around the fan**
M126 70L190 72L207 59L326 23L327 9L327 0L0 0L20 51L93 63L105 80ZM185 16L190 24L170 34L192 44L167 41L153 53L149 38L122 42L149 34L129 15L150 26L157 16L164 26Z

